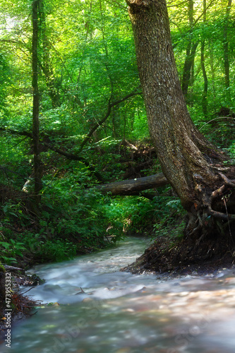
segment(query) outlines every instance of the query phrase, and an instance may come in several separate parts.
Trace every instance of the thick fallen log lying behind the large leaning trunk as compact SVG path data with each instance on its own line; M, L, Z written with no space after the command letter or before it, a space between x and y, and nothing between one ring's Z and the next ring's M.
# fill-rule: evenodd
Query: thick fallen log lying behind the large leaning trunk
M102 193L112 193L112 195L131 196L138 195L140 191L155 189L159 186L169 184L163 173L150 175L150 177L135 178L123 181L115 181L109 184L98 185Z

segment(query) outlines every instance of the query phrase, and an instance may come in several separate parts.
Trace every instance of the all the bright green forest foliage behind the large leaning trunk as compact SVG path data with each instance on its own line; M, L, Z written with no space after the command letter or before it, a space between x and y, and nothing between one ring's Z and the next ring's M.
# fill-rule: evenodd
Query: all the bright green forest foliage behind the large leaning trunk
M95 189L97 179L87 165L102 174L105 182L120 180L126 164L134 165L133 150L123 148L122 141L144 141L150 136L142 95L123 100L139 86L126 1L52 0L43 4L38 76L44 172L39 209L31 196L32 138L13 133L31 132L32 1L14 0L9 6L9 1L2 0L0 4L0 128L8 130L1 131L0 181L17 191L17 195L10 193L7 201L1 200L0 259L11 263L22 260L23 253L39 262L61 261L114 244L123 232L181 234L183 211L169 190L160 190L153 201L140 196L103 196ZM234 120L214 120L220 107L234 107L234 8L228 18L224 2L210 4L206 22L201 13L203 2L194 1L194 23L189 26L187 2L169 6L177 68L182 79L188 44L198 42L188 109L200 131L235 160ZM229 90L224 82L225 30ZM200 62L204 40L207 116L203 112ZM109 103L114 102L119 104L109 112ZM80 143L97 123L99 127L80 153ZM52 149L83 157L86 162L66 159ZM147 164L140 172L154 174L159 164L154 162L151 168ZM28 193L22 194L27 180Z

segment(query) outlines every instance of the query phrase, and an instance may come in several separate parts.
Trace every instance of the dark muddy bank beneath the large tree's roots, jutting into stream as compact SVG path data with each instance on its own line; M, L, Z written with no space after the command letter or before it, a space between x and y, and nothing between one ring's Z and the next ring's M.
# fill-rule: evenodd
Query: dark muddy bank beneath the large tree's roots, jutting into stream
M201 244L203 249L203 244ZM145 250L134 263L122 268L131 273L155 273L161 277L177 277L180 275L207 275L216 273L222 268L234 268L234 253L228 251L222 256L188 256L188 244L174 241L171 237L159 237Z

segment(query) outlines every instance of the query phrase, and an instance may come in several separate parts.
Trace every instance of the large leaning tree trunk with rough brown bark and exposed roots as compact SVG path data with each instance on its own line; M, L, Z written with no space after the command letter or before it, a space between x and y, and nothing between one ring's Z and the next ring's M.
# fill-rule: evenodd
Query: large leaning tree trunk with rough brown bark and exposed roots
M195 128L183 98L174 60L165 0L130 0L135 50L147 119L162 172L188 210L186 236L219 231L226 222L222 193L234 192L224 155ZM234 179L234 177L231 177ZM218 208L217 205L219 204Z

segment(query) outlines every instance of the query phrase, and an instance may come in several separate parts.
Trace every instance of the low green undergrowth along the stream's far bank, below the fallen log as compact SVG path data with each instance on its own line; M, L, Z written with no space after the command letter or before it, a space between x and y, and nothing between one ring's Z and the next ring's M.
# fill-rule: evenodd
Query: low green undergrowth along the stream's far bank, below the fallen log
M227 150L234 157L233 140ZM46 162L54 155L44 158ZM183 236L185 211L170 187L150 191L150 198L104 196L82 163L59 159L56 164L44 174L39 207L30 184L27 192L19 190L20 177L1 182L0 263L25 267L64 261L112 246L126 235L170 236L173 243Z

